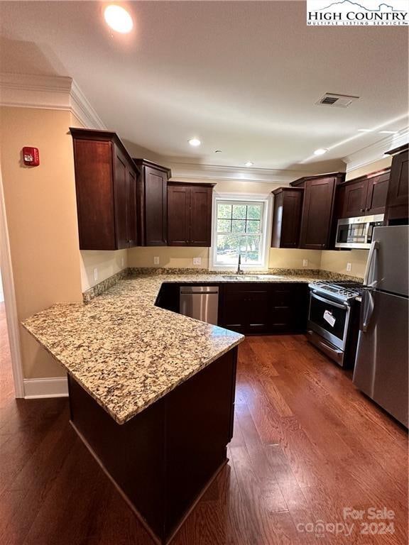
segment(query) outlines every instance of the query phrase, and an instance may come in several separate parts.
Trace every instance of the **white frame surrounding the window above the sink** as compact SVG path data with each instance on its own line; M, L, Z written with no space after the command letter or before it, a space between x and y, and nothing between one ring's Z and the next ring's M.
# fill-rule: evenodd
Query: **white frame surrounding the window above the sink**
M232 203L241 202L243 204L262 203L263 217L261 219L261 260L258 265L241 263L241 269L246 270L268 270L269 248L271 244L271 194L257 193L218 193L213 192L212 202L212 246L210 247L209 269L236 271L237 265L231 263L217 263L217 204L219 202L230 201Z

